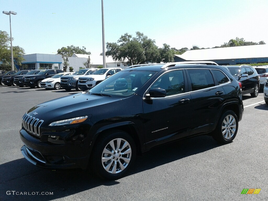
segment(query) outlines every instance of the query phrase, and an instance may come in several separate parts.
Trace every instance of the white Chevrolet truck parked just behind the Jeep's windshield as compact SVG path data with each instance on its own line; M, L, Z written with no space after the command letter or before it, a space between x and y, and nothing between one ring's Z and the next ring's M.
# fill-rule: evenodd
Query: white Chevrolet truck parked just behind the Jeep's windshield
M120 70L122 70L122 68L101 68L96 70L91 75L79 77L78 87L82 91L88 90Z

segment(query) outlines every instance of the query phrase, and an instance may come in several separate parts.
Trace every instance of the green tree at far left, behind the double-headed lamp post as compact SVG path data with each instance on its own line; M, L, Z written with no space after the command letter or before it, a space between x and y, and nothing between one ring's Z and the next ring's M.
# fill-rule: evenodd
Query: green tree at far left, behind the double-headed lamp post
M13 38L12 38L13 40ZM25 54L24 49L20 46L13 46L13 61L14 64L21 65L25 59L22 57ZM8 32L0 31L0 61L11 64L11 46Z

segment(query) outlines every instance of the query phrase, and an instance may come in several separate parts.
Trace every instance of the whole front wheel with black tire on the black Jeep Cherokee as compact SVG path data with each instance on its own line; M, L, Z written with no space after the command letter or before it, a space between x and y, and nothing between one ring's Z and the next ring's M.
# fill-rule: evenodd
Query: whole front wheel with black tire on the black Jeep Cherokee
M128 133L115 130L104 133L91 153L91 169L102 178L115 180L134 163L136 144Z

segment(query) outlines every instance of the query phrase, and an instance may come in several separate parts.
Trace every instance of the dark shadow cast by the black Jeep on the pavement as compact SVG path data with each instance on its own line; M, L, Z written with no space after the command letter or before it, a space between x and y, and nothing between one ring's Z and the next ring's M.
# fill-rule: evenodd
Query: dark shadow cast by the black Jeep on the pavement
M153 169L170 162L221 146L211 136L197 136L191 139L165 144L137 157L133 168L125 177ZM1 200L53 200L74 195L95 187L120 184L119 181L103 180L85 170L51 170L34 166L25 158L0 165ZM13 195L12 191L15 191ZM27 192L30 195L16 195ZM33 195L33 192L35 195ZM37 195L36 192L53 192L53 195ZM8 195L11 193L10 195Z

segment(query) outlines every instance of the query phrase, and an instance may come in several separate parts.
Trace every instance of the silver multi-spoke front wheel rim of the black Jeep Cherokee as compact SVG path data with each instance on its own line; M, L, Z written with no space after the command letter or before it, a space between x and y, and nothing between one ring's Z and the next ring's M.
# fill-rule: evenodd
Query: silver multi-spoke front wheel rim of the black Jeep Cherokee
M130 144L125 139L111 140L102 152L102 166L108 173L120 173L128 166L131 153Z

